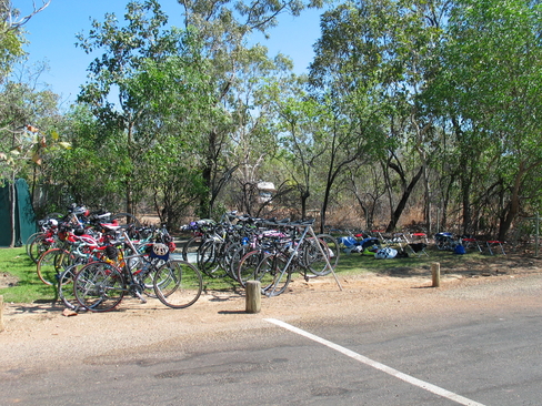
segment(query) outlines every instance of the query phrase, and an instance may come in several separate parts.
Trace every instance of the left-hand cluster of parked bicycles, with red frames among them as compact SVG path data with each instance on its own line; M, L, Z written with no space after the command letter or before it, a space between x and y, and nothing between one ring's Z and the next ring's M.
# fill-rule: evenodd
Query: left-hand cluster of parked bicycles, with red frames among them
M62 217L40 221L41 232L27 242L39 278L73 311L107 312L127 294L173 308L195 303L203 286L199 270L171 255L175 244L164 226L131 220L72 205Z

